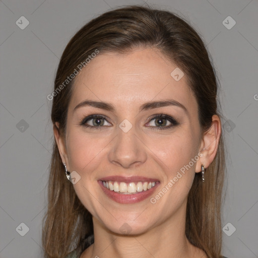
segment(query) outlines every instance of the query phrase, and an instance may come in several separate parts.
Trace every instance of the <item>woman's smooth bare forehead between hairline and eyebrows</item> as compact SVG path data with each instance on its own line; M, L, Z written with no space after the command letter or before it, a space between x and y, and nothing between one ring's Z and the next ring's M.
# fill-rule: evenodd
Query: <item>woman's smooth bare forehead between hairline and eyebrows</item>
M188 110L197 110L186 75L176 81L171 76L175 69L175 63L152 48L127 54L99 53L75 78L70 107L91 99L124 110L152 100L174 99Z

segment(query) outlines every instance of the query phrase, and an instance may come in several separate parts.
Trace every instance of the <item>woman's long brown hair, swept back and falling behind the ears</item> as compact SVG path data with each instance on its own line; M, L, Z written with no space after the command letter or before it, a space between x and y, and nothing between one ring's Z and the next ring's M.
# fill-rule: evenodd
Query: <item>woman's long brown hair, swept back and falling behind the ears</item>
M183 18L168 11L145 6L125 6L91 20L70 40L63 51L54 81L51 119L66 134L67 111L74 79L67 82L78 65L93 52L127 53L139 47L153 47L173 61L186 74L198 102L203 132L217 114L219 82L212 59L201 36ZM78 71L80 72L80 71ZM65 84L63 82L66 82ZM60 87L62 85L63 87ZM222 247L221 206L225 173L225 151L221 134L215 159L206 169L205 183L196 173L186 207L185 234L189 242L203 249L209 258L219 258ZM53 142L48 182L48 208L43 219L42 243L46 258L63 258L87 247L85 239L93 234L92 216L78 199L73 184Z

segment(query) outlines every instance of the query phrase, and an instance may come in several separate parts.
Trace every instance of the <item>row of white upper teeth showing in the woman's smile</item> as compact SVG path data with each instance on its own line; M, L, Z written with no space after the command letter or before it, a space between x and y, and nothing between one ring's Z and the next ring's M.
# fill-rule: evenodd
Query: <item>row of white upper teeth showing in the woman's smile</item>
M155 186L156 182L113 182L113 181L102 181L104 187L111 191L120 192L125 195L130 193L136 193L141 191L147 191Z

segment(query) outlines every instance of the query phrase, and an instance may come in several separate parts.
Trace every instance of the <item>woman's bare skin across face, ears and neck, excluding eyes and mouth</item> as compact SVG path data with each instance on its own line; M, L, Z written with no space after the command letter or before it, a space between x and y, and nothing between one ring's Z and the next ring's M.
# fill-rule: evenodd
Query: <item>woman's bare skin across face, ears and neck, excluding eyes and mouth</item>
M210 130L201 134L198 105L186 75L178 82L170 76L176 67L158 50L144 48L123 55L100 53L76 77L67 134L61 137L54 126L54 136L68 171L75 170L81 176L74 189L93 215L95 242L81 258L207 257L185 236L186 201L195 173L201 171L202 164L207 168L216 155L221 124L214 115ZM108 102L115 110L84 106L74 111L86 99ZM188 114L174 105L139 111L145 102L165 99L180 102ZM159 130L151 119L162 113L179 124ZM99 130L80 125L90 114L102 114L108 120L103 120L105 124ZM124 119L133 125L127 133L118 126ZM170 125L168 120L162 121ZM155 197L199 152L202 157L155 204L150 198L118 204L97 182L111 175L158 178ZM127 235L120 232L124 223L130 226Z

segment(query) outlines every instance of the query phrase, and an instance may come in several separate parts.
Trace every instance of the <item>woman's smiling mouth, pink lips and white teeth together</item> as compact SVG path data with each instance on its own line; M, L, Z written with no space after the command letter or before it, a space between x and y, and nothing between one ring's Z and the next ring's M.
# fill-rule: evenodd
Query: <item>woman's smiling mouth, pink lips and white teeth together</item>
M157 179L146 177L106 177L98 180L104 193L113 201L133 204L150 197L160 183Z

